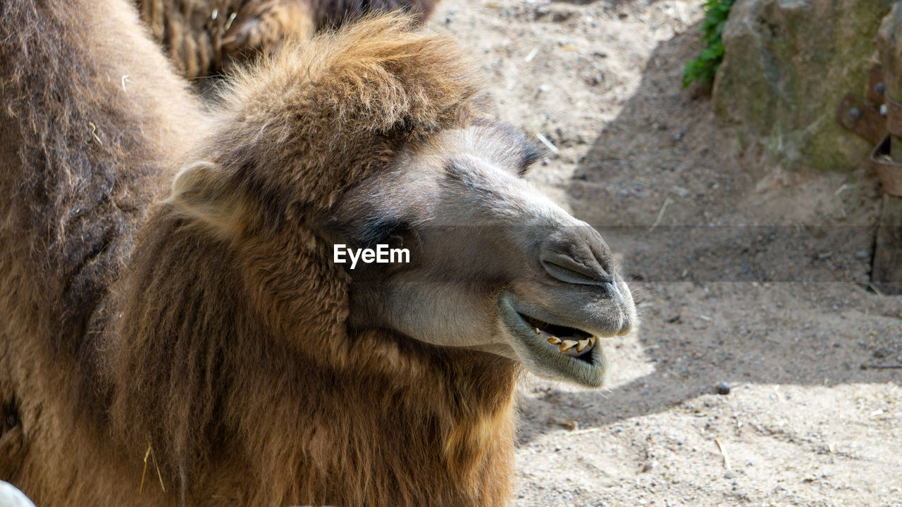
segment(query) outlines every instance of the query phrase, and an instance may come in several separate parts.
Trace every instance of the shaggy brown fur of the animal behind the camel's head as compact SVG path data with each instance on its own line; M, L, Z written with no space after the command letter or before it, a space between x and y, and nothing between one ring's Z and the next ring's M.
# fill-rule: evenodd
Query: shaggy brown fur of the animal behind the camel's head
M275 51L365 14L405 11L426 19L437 0L137 0L144 23L187 78Z

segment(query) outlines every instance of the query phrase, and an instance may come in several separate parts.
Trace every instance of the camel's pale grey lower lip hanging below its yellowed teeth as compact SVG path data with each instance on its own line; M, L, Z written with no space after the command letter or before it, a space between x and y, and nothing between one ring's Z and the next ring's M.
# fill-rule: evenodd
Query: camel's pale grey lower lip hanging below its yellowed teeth
M548 333L539 332L534 323L546 325L556 332L573 331L569 337L592 336L578 327L564 326L549 322L548 318L537 318L522 309L516 296L510 290L502 291L498 298L498 309L504 327L513 336L511 346L526 368L536 375L550 380L577 383L586 387L601 387L607 372L607 360L600 339L593 339L593 346L581 355L566 355L549 346ZM595 338L593 336L593 338Z

